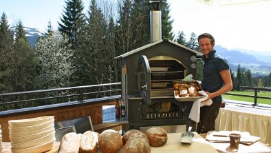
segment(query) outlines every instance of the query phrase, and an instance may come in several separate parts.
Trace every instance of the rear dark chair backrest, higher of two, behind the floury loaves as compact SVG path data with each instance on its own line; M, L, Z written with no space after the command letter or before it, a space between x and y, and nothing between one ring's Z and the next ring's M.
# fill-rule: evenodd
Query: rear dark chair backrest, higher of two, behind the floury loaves
M65 121L58 121L54 123L54 128L65 128L72 125L74 125L77 133L83 134L88 130L94 131L90 116L84 116L77 119L69 119Z

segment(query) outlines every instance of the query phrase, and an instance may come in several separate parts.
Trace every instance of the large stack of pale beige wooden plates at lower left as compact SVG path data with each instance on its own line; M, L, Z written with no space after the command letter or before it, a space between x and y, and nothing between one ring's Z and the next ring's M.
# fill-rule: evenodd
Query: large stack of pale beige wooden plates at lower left
M8 121L11 150L16 153L52 150L55 139L54 116Z

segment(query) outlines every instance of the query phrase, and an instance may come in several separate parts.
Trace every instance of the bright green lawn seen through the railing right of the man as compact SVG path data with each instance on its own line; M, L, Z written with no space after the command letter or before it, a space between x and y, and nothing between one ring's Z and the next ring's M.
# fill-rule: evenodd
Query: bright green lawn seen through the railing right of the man
M248 94L254 96L254 91L252 92L228 92L232 94ZM271 97L271 92L258 92L258 96L268 96ZM246 97L246 96L232 96L232 95L226 95L223 94L223 99L230 99L230 100L236 100L236 101L247 101L254 103L254 98ZM271 99L257 99L258 103L264 103L271 105Z

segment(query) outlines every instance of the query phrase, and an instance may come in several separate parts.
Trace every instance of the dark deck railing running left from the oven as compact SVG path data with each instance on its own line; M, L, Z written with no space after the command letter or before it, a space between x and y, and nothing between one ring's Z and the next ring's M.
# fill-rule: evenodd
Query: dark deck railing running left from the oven
M66 103L69 101L83 103L87 99L120 95L120 85L121 83L118 82L0 94L0 111Z

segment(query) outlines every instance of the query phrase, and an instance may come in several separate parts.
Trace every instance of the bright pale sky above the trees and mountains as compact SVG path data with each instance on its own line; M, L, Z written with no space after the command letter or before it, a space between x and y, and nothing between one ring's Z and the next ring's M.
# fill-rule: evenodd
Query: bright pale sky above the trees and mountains
M85 11L89 1L83 0ZM271 55L270 0L210 0L212 5L201 1L168 0L175 34L183 30L189 37L191 32L209 32L216 45ZM232 1L240 4L222 5ZM258 2L246 3L249 1ZM64 0L0 0L0 12L8 15L10 26L20 19L24 26L40 30L47 28L48 21L56 29L64 6Z

